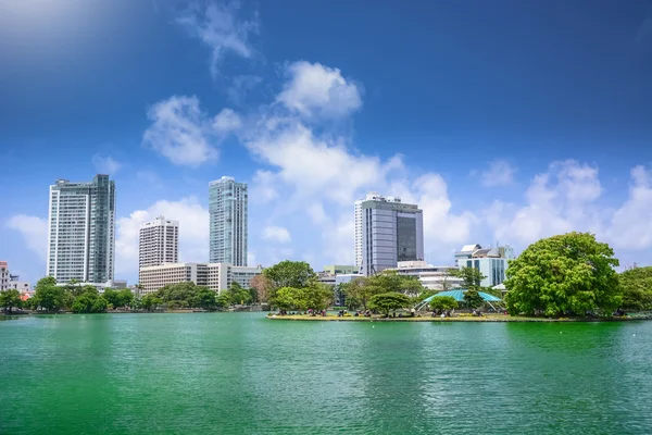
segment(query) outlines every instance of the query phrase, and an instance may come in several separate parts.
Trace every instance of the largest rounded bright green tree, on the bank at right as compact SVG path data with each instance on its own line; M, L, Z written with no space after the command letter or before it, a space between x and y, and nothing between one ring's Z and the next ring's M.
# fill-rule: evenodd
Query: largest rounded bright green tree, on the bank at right
M589 233L568 233L530 245L506 270L511 314L584 315L620 306L618 260Z

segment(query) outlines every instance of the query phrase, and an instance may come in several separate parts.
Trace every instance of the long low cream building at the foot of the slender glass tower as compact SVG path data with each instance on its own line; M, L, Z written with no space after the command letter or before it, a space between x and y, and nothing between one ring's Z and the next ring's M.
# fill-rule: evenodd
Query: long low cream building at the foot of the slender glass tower
M222 293L236 282L250 287L251 278L260 275L259 266L238 266L228 263L166 263L140 269L142 295L155 293L170 284L193 282L211 290Z

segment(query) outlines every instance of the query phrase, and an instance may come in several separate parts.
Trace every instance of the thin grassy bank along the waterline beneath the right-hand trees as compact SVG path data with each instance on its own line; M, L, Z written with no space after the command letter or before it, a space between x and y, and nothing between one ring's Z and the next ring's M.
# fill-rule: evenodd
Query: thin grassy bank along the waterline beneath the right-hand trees
M337 316L337 315L311 315L311 314L298 314L298 315L278 315L267 314L269 320L286 320L286 321L304 321L304 322L627 322L634 319L629 316L623 318L561 318L561 319L547 319L547 318L522 318L512 316L506 314L486 314L480 318L476 316L453 316L453 318L439 318L439 316L415 316L415 318L383 318L383 316Z

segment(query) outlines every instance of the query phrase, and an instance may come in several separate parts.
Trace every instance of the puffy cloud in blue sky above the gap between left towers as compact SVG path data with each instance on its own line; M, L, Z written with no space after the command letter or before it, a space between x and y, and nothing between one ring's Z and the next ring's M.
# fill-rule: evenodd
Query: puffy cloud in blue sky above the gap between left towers
M142 135L145 147L152 148L172 163L198 166L216 160L218 138L197 97L173 96L148 111L152 124Z

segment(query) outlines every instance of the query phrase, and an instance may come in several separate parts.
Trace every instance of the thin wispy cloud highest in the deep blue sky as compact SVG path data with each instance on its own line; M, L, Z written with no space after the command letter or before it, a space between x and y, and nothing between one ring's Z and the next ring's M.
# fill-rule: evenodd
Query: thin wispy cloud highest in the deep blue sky
M210 69L213 78L220 75L220 63L230 53L251 59L254 50L249 42L251 34L258 34L258 17L252 21L238 21L237 2L228 4L210 3L205 10L186 11L177 22L211 49Z

